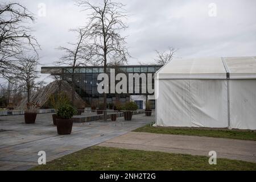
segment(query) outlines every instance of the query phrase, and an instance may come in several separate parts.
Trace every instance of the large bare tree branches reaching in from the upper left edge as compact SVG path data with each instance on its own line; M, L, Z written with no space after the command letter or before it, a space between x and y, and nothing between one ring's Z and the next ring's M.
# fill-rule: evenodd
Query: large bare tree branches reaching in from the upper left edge
M0 74L4 78L15 77L16 56L40 48L28 25L34 21L33 14L19 3L0 3Z

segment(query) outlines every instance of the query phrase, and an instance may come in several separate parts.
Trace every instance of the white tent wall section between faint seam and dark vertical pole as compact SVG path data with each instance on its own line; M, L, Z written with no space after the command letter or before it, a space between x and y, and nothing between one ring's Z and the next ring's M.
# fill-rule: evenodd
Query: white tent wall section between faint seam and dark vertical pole
M192 80L193 127L228 127L226 80Z

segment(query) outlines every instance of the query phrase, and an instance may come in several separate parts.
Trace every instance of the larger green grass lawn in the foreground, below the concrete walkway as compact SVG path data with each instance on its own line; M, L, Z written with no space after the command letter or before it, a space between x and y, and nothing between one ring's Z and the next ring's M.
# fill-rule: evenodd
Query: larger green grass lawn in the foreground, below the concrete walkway
M94 146L31 170L256 170L256 163L217 159L217 165L209 165L208 160L207 156Z

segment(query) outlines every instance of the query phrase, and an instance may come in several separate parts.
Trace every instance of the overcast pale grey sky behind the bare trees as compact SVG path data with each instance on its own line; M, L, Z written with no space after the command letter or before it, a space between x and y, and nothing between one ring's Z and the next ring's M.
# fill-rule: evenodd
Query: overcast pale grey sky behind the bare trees
M127 46L136 59L130 59L129 64L151 63L156 49L164 51L169 46L178 48L176 57L182 58L256 55L255 0L118 2L127 5L130 14L129 28L123 35L129 35ZM36 15L33 27L42 48L40 63L53 65L61 56L56 48L74 40L68 30L85 24L87 13L81 12L73 0L20 0L19 3ZM39 3L46 5L46 16L38 16ZM210 3L216 4L216 16L209 16Z

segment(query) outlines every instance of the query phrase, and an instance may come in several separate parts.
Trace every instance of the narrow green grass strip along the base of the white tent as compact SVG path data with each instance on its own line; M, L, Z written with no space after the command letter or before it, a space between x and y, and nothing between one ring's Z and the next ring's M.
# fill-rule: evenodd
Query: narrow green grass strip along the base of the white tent
M150 125L143 126L137 132L172 134L172 135L195 135L200 137L216 137L216 138L231 138L241 140L256 140L255 131L237 131L237 130L210 130L210 129L189 129L189 128L173 128L173 127L151 127Z

